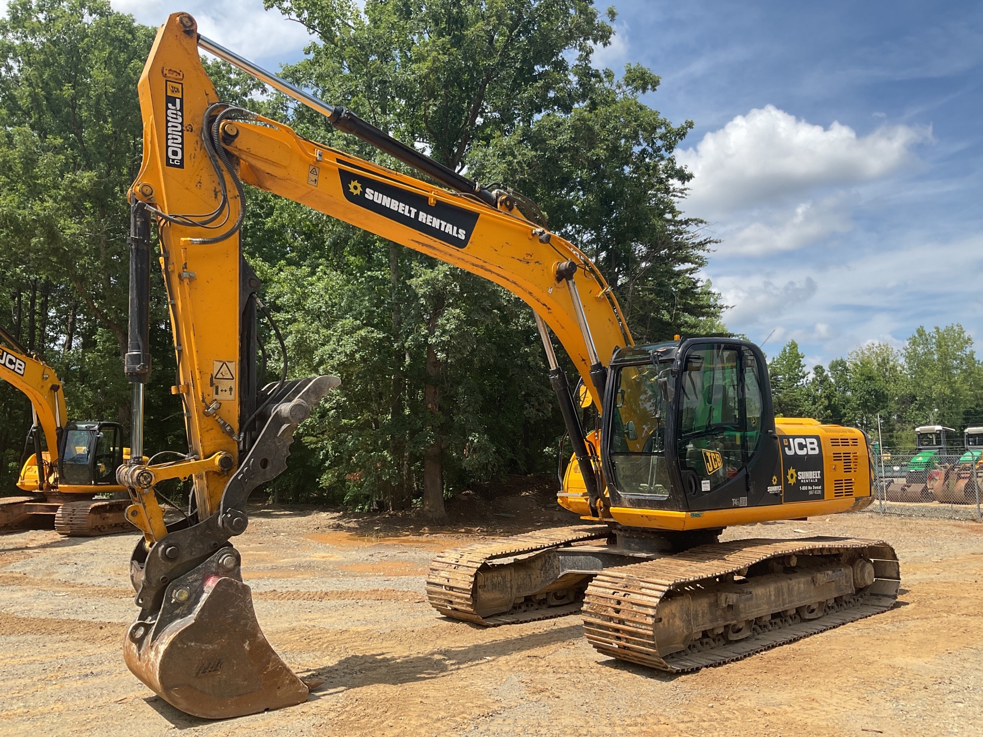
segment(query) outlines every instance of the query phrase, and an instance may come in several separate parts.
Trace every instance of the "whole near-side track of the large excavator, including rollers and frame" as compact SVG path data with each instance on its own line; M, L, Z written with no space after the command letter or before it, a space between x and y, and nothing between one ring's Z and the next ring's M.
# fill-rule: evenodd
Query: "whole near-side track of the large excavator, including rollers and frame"
M797 573L796 565L804 570ZM815 600L792 606L785 592L781 609L768 611L770 601L782 600L781 586L795 577L799 595ZM854 581L867 579L867 586L854 590ZM881 540L700 545L605 569L584 597L584 631L596 650L612 657L671 672L699 670L886 611L895 603L899 579L895 550ZM843 593L833 596L837 591ZM701 618L706 612L713 616ZM704 629L708 622L715 626Z

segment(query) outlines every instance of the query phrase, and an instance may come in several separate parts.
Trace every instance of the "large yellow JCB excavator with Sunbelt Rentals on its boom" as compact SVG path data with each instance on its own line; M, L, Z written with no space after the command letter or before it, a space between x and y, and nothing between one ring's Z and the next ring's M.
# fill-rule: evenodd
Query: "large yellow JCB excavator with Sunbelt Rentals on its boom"
M438 184L306 140L222 102L208 51L322 113ZM559 503L583 525L444 552L427 581L448 617L505 625L582 612L600 652L668 671L723 663L891 608L894 549L870 539L740 539L725 527L860 510L871 452L852 427L774 416L761 350L734 338L635 345L604 276L516 193L489 190L343 107L329 105L198 32L157 32L140 80L144 160L132 203L129 353L133 458L118 472L144 533L131 559L140 607L124 655L178 709L228 717L304 702L308 686L270 648L232 540L247 499L286 466L294 430L333 376L258 385L260 281L243 258L245 185L290 198L480 274L536 313L549 380L572 440ZM143 460L151 226L190 448ZM551 331L551 334L550 334ZM583 381L578 400L553 337ZM153 486L192 477L167 523Z

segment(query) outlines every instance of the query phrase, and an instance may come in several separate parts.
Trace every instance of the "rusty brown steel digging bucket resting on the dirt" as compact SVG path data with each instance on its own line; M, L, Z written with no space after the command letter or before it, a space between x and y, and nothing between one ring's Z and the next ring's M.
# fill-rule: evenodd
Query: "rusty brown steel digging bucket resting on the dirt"
M308 698L263 637L231 546L171 582L156 616L130 626L123 654L146 686L195 716L242 716Z

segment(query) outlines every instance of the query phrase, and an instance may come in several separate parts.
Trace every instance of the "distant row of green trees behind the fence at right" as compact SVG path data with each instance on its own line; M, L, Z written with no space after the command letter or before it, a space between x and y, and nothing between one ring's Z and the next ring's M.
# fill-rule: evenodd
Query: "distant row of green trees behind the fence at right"
M768 368L777 414L855 425L875 438L880 418L885 446L913 447L918 425L983 425L983 362L959 324L919 327L901 350L868 343L811 374L790 340Z

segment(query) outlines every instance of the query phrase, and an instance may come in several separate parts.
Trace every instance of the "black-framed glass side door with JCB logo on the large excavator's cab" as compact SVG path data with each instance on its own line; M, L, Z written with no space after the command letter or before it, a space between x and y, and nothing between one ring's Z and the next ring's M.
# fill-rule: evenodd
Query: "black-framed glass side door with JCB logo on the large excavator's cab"
M687 507L781 503L768 492L780 456L761 351L692 339L677 367L673 450Z

